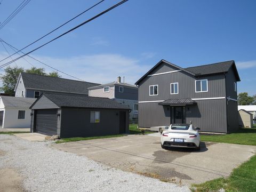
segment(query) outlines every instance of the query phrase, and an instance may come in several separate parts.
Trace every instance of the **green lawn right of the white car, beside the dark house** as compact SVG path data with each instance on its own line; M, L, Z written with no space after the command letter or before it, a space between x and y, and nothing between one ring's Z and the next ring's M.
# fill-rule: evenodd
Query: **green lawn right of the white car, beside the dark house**
M253 145L256 146L256 129L243 128L236 133L226 135L200 135L201 141L213 141L234 143L239 145Z

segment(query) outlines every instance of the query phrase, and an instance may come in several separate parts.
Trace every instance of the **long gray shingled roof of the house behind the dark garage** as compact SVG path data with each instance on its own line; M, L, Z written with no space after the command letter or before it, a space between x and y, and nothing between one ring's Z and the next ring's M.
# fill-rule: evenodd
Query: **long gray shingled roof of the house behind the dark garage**
M43 90L43 91L88 94L89 91L87 88L91 86L99 85L98 83L76 81L71 79L49 77L49 76L29 74L29 73L21 73L20 76L22 77L22 80L26 89L35 89L35 90ZM17 85L18 83L19 83L19 79L18 79ZM15 87L15 90L16 90L16 87Z

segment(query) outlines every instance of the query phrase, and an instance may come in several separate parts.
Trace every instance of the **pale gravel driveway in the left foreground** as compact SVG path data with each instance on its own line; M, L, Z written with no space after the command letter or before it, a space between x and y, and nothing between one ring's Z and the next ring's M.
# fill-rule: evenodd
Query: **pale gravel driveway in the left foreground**
M190 191L54 149L51 141L0 135L0 151L0 169L17 170L27 191Z

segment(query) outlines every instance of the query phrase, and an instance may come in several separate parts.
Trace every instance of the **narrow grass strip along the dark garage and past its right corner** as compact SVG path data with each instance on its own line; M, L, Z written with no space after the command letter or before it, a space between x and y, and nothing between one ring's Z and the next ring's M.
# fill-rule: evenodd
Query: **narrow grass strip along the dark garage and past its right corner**
M130 124L129 131L130 134L141 134L141 131L137 129L138 124ZM153 133L151 131L145 131L145 134ZM75 138L63 138L56 143L63 143L63 142L73 142L73 141L84 141L84 140L91 140L91 139L103 139L103 138L114 138L114 137L123 137L124 134L117 134L117 135L106 135L100 137L75 137Z

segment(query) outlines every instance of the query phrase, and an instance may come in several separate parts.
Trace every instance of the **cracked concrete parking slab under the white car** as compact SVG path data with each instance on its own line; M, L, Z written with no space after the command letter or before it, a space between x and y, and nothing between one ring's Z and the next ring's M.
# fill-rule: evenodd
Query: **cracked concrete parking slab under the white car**
M128 135L54 145L94 161L185 185L227 177L255 154L256 146L202 142L201 151L161 148L159 137Z

